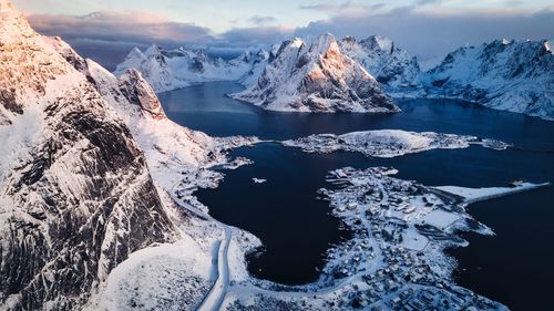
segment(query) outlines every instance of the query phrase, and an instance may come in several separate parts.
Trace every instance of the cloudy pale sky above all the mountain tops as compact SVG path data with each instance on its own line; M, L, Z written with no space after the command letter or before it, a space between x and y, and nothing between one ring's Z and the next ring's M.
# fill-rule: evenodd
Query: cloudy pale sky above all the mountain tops
M293 37L380 34L421 61L494 39L554 38L552 0L12 0L31 24L113 68L151 43L233 55Z

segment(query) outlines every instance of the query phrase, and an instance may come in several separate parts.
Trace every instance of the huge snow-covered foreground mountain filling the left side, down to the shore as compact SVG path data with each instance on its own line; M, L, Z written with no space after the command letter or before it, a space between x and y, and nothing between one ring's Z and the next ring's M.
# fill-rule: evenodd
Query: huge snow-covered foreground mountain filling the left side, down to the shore
M193 308L222 231L171 196L201 206L192 191L222 178L206 168L253 138L181 127L138 71L116 77L0 4L0 310Z

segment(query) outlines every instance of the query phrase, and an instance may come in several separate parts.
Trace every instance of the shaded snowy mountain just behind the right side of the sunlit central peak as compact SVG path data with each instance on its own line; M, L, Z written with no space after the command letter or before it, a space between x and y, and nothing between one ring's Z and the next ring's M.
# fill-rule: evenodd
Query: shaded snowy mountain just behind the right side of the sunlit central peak
M362 65L387 92L409 92L421 89L418 60L399 49L388 38L371 35L363 40L346 37L340 51Z

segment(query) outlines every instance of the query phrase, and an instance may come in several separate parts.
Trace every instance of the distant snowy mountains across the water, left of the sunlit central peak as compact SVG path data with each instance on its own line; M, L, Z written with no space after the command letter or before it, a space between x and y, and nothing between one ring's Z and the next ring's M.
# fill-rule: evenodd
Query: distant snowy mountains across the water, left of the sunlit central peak
M163 50L153 44L145 52L133 49L114 73L121 75L129 69L136 69L156 92L164 92L207 81L250 84L259 76L267 60L268 53L264 50L248 51L225 61L209 56L204 50Z

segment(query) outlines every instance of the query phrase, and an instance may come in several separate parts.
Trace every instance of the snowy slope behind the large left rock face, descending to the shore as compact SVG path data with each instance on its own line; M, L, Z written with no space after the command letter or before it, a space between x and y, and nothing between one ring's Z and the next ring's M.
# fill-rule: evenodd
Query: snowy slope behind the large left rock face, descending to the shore
M178 172L224 163L227 160L226 149L252 142L243 137L213 138L182 127L165 116L154 90L138 71L130 69L117 77L94 61L78 55L60 38L45 40L70 60L115 108L146 154L154 180L167 193L175 182L183 178Z

